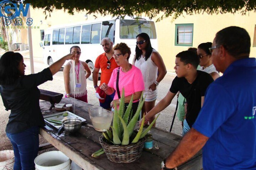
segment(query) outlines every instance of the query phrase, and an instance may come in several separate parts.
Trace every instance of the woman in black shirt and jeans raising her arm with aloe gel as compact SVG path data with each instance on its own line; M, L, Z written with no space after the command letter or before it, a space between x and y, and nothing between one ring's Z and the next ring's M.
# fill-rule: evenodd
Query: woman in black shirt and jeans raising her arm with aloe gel
M43 71L30 75L25 75L26 65L21 54L8 51L0 58L0 94L5 110L11 110L5 131L13 146L15 170L34 169L38 154L38 131L45 124L37 86L52 80L64 62L74 56L68 54Z

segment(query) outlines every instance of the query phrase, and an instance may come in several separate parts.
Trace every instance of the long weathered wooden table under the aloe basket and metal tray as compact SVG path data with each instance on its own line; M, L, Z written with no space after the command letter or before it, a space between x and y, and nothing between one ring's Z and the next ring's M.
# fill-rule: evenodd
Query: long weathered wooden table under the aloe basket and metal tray
M73 98L63 98L61 103L72 103ZM51 104L49 102L40 102L41 111L43 115L57 113L53 108L49 110ZM87 121L87 125L82 125L80 131L75 134L64 132L57 135L57 130L51 126L46 125L40 129L40 135L50 142L54 147L63 152L72 161L76 162L83 169L116 169L116 170L137 170L137 169L161 169L161 162L165 159L178 145L181 136L163 131L159 128L152 128L153 146L157 143L159 149L155 147L148 152L143 151L141 157L132 163L115 163L107 159L106 154L102 154L98 158L91 157L91 154L101 148L99 137L101 132L94 130L91 125L91 120L88 113L88 108L91 104L84 103L80 100L75 100L75 114L83 117ZM197 153L188 162L185 162L178 169L201 169L202 168L202 152Z

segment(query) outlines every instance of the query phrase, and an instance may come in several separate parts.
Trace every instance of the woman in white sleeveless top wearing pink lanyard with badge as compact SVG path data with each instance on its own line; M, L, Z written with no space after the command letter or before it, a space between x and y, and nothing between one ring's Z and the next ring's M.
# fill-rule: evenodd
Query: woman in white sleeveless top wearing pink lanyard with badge
M76 53L75 66L72 62L68 62L63 70L64 84L65 84L65 97L73 97L78 100L87 101L87 83L86 79L90 76L91 70L87 63L80 61L81 49L79 46L73 46L70 48L70 53ZM84 73L86 71L86 74Z

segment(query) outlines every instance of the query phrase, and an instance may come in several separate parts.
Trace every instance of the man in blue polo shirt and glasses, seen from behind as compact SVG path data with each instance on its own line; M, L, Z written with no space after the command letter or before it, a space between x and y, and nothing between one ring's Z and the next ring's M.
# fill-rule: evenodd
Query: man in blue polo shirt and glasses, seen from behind
M223 76L209 85L191 130L163 162L171 169L203 147L203 168L256 169L256 60L248 32L231 26L217 32L212 60Z

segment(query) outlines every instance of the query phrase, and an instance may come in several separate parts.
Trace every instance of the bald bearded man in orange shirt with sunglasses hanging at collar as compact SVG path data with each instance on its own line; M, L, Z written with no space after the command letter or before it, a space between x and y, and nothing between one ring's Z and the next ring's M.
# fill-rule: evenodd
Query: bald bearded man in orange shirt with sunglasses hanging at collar
M105 52L103 54L100 54L97 57L94 65L94 70L93 70L93 85L96 91L98 90L99 86L102 83L108 84L113 70L118 67L113 57L114 50L113 50L113 42L111 41L111 39L110 38L102 39L101 45ZM100 70L101 70L100 85L98 86L98 75ZM113 100L114 95L115 95L115 92L111 95L107 95L105 97L104 102L103 100L100 100L100 106L103 107L104 109L111 110L110 103Z

